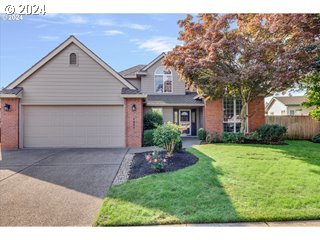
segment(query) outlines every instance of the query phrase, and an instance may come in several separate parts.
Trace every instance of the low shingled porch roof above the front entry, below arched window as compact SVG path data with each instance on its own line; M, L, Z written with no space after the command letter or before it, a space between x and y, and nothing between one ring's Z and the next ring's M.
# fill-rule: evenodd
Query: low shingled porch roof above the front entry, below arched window
M203 106L202 100L195 99L196 92L185 95L148 95L147 106Z

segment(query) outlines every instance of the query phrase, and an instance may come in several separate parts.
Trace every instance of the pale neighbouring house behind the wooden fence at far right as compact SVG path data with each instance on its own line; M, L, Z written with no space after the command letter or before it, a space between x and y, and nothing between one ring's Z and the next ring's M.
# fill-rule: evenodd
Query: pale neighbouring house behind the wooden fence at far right
M301 106L307 98L305 96L276 96L266 106L267 115L306 116L309 108Z

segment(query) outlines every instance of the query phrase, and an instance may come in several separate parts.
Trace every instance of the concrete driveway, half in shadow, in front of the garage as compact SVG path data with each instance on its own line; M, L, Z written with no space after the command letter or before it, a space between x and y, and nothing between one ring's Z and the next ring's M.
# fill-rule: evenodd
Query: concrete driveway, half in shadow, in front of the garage
M91 226L126 152L2 151L0 226Z

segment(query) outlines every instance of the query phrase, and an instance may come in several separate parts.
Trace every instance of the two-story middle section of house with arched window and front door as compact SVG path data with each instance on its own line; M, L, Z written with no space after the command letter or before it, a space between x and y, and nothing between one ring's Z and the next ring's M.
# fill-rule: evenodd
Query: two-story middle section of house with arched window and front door
M186 91L185 83L177 73L162 66L162 53L147 65L137 65L120 74L141 93L146 94L144 112L159 110L164 122L184 127L184 136L196 136L203 127L204 103L196 92Z

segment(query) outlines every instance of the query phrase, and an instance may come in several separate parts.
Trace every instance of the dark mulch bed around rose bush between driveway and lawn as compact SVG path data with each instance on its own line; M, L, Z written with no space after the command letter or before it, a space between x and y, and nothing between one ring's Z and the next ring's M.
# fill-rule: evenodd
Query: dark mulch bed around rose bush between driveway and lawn
M146 161L146 155L151 152L137 153L134 155L129 179L141 178L150 174L157 174ZM166 152L160 152L162 156L165 156ZM198 161L198 158L193 154L186 151L175 152L173 156L167 158L167 166L163 172L174 172L179 169L191 166ZM162 172L161 172L162 173Z

